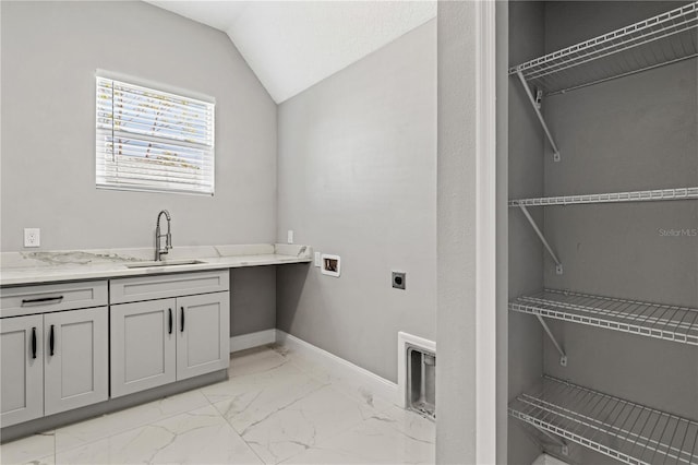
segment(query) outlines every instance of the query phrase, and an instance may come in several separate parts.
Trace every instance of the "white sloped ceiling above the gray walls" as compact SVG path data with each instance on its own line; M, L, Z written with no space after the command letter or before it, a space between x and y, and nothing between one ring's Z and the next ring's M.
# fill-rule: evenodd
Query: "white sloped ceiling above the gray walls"
M436 16L436 1L145 0L228 34L279 104Z

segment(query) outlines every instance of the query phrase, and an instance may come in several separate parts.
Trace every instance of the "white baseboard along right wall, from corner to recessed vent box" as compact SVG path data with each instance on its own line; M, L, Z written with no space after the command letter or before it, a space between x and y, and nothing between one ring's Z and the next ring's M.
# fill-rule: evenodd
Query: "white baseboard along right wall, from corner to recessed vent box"
M397 402L396 383L388 381L385 378L381 378L364 368L358 367L344 358L337 357L327 350L321 349L320 347L306 343L303 339L299 339L298 337L281 330L276 330L276 343L332 369L334 375L337 375L351 384L365 386L373 395L392 404L399 405Z

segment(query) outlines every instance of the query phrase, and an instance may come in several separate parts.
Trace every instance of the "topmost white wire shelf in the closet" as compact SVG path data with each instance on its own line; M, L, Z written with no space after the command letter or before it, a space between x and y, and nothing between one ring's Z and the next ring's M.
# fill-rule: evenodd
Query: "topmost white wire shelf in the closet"
M698 56L698 2L509 69L549 95Z

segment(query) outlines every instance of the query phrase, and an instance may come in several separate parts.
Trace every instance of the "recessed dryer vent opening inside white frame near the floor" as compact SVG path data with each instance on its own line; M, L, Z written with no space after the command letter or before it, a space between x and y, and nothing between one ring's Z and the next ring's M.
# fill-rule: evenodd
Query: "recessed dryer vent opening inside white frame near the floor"
M436 354L407 344L407 408L436 419Z

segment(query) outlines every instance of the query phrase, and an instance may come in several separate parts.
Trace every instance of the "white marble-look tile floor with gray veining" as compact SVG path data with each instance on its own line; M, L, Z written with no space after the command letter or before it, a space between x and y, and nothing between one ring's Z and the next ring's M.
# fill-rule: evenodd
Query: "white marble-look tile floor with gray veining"
M284 347L230 379L0 446L1 464L429 464L434 424Z

